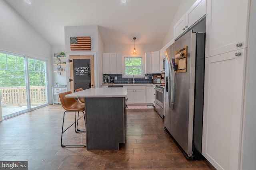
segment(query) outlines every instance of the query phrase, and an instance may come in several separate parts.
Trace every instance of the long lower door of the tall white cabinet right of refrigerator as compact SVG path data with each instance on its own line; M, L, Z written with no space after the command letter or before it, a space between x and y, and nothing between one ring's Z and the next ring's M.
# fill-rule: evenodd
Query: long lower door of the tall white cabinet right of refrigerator
M240 49L205 60L202 154L216 169L238 170L245 59Z

